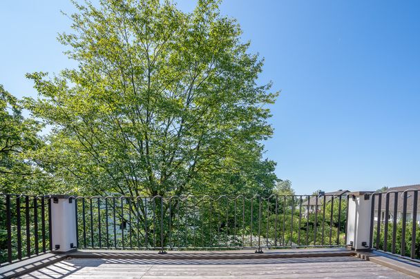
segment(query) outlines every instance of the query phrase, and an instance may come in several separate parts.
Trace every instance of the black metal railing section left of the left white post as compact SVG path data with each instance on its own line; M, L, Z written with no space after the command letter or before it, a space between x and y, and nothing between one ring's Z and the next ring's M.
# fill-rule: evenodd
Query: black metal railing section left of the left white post
M51 198L0 194L0 265L51 250Z

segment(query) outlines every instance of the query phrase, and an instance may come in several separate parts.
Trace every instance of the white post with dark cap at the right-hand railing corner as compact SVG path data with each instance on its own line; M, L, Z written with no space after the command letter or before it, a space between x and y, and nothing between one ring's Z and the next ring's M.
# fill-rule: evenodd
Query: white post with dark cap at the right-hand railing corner
M347 205L347 247L356 251L370 250L372 192L350 192Z

